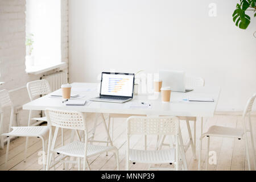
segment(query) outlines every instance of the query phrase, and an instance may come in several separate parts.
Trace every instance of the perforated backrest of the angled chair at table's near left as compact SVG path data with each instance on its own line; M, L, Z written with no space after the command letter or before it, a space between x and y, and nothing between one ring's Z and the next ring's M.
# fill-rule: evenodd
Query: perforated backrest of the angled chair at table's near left
M87 131L85 116L81 112L47 108L45 113L48 126Z

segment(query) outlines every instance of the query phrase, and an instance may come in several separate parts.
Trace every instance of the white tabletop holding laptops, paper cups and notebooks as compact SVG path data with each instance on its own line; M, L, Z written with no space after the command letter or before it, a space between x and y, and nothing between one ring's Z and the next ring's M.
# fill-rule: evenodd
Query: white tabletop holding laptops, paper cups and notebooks
M134 96L133 100L118 104L111 102L89 101L90 98L99 96L99 84L96 83L78 83L72 84L72 92L85 96L86 104L84 106L66 106L61 98L52 98L51 94L40 97L34 101L23 105L24 110L45 110L47 107L64 110L76 110L85 113L115 113L115 114L146 114L146 115L177 115L188 117L212 117L218 102L220 88L201 87L191 92L180 93L171 92L171 102L163 103L161 95L154 98L151 95ZM59 91L57 91L59 92ZM189 96L212 97L214 102L188 102L182 101ZM150 108L131 108L133 103L145 102L150 104Z

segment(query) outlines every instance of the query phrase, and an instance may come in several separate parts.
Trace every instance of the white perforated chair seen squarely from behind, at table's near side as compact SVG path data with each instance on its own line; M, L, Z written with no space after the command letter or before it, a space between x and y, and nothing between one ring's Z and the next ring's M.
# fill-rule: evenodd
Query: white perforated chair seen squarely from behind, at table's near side
M167 135L175 137L175 147L169 150L135 150L130 148L132 135ZM145 147L146 148L146 147ZM127 154L126 169L129 163L162 164L174 163L175 169L180 169L180 163L187 169L183 140L180 133L180 123L177 117L129 117L127 118ZM181 159L180 160L180 154ZM173 168L151 168L172 170Z

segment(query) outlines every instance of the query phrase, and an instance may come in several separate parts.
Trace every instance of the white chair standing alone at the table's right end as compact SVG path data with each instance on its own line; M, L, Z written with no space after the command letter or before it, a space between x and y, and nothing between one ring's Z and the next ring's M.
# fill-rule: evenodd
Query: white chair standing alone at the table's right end
M198 163L198 169L201 168L201 148L202 148L202 139L204 137L207 137L207 152L206 152L206 159L205 159L205 170L208 169L208 158L209 158L209 146L210 146L210 137L229 137L229 138L238 138L238 139L245 139L245 150L246 150L246 156L247 156L247 163L248 163L248 169L250 170L250 156L249 156L249 142L247 138L247 132L250 132L251 137L251 147L253 151L253 163L254 163L254 169L256 170L256 162L255 162L255 150L254 150L254 139L253 139L253 130L251 127L251 108L253 107L253 103L256 98L256 93L253 97L249 98L247 101L247 104L245 106L245 110L243 110L243 129L236 129L232 127L224 127L224 126L216 126L213 125L209 127L207 133L204 133L200 137L200 153L199 153L199 163ZM246 122L248 126L246 126Z

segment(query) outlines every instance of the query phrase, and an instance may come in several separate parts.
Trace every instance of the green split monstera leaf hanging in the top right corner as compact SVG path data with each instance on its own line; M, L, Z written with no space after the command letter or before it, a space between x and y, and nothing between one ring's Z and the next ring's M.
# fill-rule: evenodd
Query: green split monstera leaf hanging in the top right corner
M240 4L237 4L236 10L233 13L233 22L236 23L236 26L241 29L246 29L250 22L251 18L249 15L245 14L245 11L249 8L256 10L256 0L240 0ZM254 14L254 17L256 13Z

